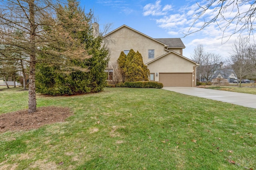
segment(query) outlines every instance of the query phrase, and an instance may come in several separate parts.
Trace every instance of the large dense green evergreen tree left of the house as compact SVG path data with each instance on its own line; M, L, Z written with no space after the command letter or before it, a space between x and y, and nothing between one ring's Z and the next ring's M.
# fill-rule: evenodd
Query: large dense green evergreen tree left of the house
M64 8L59 6L57 11L58 20L66 23L64 29L75 30L71 31L72 38L84 46L90 57L67 59L74 66L83 69L73 67L71 70L66 70L66 63L62 65L38 64L37 92L57 96L102 91L106 85L105 68L108 63L108 50L101 45L102 37L93 35L92 12L85 14L76 0L68 0L68 6ZM85 27L79 27L72 21L84 23Z

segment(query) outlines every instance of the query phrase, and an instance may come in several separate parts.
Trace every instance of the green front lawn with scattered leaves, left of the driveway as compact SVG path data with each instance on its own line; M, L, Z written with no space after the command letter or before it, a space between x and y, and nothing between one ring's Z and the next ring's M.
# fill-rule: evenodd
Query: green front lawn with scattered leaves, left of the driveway
M0 114L26 108L27 98L27 91L0 91ZM37 104L70 107L74 115L2 133L0 169L256 169L256 109L140 88L38 95Z

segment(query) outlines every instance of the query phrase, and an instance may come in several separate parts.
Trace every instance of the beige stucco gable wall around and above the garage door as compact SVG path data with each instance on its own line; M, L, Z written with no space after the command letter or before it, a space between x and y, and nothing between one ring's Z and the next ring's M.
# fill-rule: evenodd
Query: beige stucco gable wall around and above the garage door
M148 64L151 73L193 73L195 63L180 57L175 53L170 53L152 63ZM194 76L194 74L193 74ZM193 78L194 79L194 78ZM159 81L159 75L155 76L155 81Z

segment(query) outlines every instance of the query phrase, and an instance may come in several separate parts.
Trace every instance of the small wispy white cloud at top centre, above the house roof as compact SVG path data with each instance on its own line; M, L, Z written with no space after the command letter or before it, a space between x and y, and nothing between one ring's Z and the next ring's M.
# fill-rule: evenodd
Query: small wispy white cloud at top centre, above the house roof
M161 0L157 0L155 4L147 4L143 8L143 16L163 16L172 9L171 5L165 5L164 8L160 5Z

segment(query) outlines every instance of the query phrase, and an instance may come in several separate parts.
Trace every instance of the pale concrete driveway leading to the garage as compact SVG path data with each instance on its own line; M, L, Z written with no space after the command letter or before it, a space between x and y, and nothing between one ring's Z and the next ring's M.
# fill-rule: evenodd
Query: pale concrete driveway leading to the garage
M164 90L256 108L256 95L193 87L163 87ZM255 89L256 90L256 89Z

